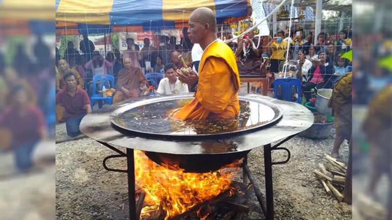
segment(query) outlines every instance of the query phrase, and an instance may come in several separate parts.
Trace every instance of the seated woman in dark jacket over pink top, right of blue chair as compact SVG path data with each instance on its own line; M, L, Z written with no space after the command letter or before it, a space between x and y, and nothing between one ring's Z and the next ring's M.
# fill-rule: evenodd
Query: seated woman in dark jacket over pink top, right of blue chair
M334 73L334 65L325 63L326 56L324 51L320 51L318 55L318 60L313 61L312 68L308 71L308 82L304 87L304 94L306 96L306 100L309 101L312 88L332 88L333 83L331 81L331 77Z

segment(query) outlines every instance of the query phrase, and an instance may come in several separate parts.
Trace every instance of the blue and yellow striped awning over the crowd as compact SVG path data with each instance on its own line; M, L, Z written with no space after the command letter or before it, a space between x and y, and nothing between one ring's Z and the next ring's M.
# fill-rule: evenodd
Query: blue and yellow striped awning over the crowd
M214 10L218 23L251 14L250 0L56 0L56 22L174 27L198 7Z

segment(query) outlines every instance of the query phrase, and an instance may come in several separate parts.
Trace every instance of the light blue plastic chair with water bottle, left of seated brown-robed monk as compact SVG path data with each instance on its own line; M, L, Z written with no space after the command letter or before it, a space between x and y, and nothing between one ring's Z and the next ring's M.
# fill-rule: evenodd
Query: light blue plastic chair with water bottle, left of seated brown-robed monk
M102 94L99 94L96 88L97 82L100 81L99 90L102 89L103 86L105 88L114 88L114 77L112 75L107 74L99 74L93 77L93 95L90 97L91 109L94 107L94 101L104 100L108 105L112 105L113 97L102 97Z

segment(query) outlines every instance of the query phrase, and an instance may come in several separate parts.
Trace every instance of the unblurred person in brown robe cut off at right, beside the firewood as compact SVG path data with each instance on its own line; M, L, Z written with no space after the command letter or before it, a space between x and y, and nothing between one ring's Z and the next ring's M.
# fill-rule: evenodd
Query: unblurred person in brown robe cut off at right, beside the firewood
M340 78L332 91L328 107L332 108L336 131L331 155L339 157L339 148L344 140L350 140L352 132L352 72Z

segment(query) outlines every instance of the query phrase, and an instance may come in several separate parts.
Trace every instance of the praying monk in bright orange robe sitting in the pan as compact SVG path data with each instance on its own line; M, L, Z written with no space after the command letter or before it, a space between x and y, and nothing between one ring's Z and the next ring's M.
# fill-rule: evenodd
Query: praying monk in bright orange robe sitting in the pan
M178 79L196 92L195 98L173 117L181 120L232 118L239 114L240 77L231 48L217 39L214 12L197 8L190 17L188 36L192 44L200 44L198 76L194 71L178 73Z

